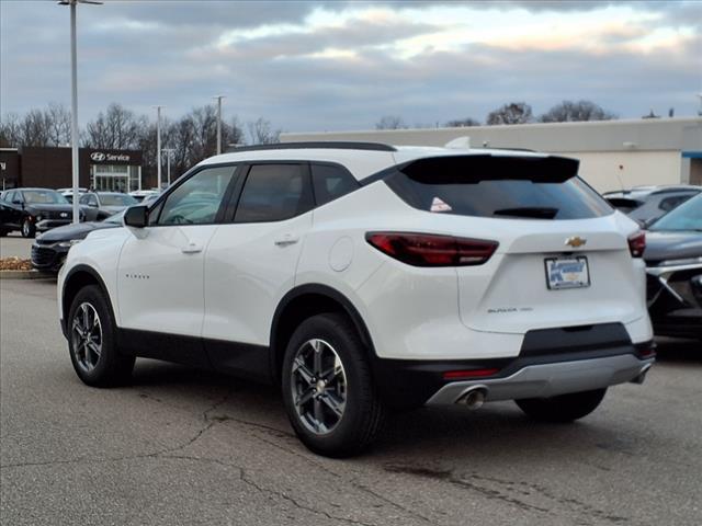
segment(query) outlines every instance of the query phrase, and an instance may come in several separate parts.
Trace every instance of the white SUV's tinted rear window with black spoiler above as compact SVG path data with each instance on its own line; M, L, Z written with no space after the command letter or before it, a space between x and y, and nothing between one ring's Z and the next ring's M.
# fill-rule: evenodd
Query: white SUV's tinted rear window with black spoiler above
M587 219L612 207L570 159L465 156L420 159L385 179L408 205L435 214Z

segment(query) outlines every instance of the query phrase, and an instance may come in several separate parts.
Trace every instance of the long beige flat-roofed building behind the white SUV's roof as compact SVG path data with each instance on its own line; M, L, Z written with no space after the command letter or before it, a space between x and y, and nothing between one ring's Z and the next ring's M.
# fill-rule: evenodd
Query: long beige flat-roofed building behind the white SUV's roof
M525 148L580 160L580 175L600 192L647 184L702 184L702 118L283 134L298 140L363 140L444 146L468 137L472 148Z

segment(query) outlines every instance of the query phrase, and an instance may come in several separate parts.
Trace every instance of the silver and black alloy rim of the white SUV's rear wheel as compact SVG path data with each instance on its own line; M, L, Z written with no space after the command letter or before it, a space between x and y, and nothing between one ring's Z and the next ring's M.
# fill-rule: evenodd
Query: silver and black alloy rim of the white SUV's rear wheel
M297 418L317 435L333 431L347 404L347 375L341 358L324 340L299 346L293 359L291 389Z

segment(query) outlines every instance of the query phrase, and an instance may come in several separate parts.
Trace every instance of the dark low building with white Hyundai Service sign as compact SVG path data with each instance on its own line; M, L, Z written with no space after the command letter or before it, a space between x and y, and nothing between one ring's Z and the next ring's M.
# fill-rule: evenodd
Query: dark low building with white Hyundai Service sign
M133 192L141 190L141 152L80 148L79 186ZM72 185L71 149L55 147L0 148L2 190L36 186L61 188Z

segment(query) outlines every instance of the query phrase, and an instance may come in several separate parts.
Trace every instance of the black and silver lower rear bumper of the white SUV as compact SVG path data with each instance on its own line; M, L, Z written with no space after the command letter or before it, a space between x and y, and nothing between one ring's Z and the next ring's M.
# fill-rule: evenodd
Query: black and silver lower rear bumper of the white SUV
M375 356L373 374L381 397L396 408L455 403L465 390L488 385L487 400L540 398L633 380L650 367L654 350L653 341L634 344L622 324L607 323L530 331L509 358Z

